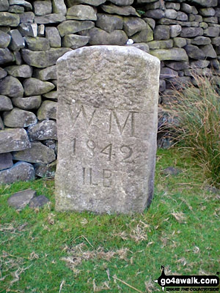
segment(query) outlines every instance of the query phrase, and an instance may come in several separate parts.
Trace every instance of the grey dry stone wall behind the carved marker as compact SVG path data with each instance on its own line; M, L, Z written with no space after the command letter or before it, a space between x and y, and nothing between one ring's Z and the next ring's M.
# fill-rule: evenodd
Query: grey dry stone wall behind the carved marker
M56 60L89 45L131 45L161 60L172 85L220 73L218 0L1 0L0 182L54 176Z

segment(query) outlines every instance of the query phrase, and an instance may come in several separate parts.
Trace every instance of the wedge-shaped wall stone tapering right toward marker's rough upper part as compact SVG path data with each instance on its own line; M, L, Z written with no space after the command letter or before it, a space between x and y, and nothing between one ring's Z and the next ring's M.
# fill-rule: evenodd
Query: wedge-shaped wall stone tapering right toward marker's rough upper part
M54 88L54 85L48 81L41 81L37 78L28 78L23 82L24 94L30 95L41 95Z

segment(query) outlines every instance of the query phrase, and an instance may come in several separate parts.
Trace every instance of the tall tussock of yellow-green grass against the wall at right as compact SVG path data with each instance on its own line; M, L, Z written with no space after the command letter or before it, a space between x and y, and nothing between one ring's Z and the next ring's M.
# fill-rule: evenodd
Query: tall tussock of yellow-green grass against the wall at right
M172 105L176 141L202 166L211 184L220 186L220 77L194 76L194 84L176 90Z

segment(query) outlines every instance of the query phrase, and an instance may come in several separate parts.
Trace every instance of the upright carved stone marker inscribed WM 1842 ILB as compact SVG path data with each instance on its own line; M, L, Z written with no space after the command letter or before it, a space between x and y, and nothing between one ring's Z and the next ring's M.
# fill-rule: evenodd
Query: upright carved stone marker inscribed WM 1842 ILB
M159 59L90 46L57 67L56 210L142 212L153 195Z

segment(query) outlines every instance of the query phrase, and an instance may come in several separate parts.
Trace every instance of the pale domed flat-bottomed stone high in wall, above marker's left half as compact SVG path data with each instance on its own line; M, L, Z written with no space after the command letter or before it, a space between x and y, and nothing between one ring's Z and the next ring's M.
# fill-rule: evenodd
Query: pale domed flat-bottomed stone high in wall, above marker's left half
M67 9L67 19L78 20L96 20L96 13L93 7L89 5L73 5Z

